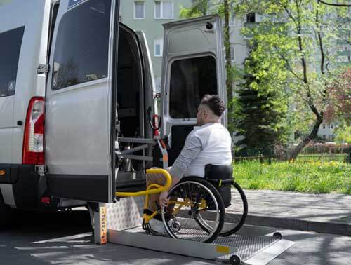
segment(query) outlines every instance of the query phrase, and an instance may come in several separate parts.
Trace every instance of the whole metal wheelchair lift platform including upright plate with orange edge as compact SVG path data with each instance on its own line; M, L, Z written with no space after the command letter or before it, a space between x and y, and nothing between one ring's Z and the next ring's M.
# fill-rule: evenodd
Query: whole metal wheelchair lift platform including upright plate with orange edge
M141 228L143 203L140 196L100 204L94 222L95 243L116 243L232 264L239 264L233 259L239 256L244 264L253 265L267 264L294 245L282 239L275 229L263 226L243 226L234 235L218 237L213 243L147 235ZM189 229L194 231L192 227ZM187 235L192 237L192 233Z

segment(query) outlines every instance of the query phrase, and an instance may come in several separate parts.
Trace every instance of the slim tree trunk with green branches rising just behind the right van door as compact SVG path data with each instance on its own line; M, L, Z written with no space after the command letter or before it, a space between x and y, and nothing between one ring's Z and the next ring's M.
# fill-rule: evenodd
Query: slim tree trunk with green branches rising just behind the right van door
M230 135L232 135L232 123L233 123L233 86L234 86L234 69L230 60L230 32L229 32L229 18L230 10L232 9L233 0L194 0L190 8L181 8L180 16L183 18L196 18L201 15L208 15L208 13L218 13L224 19L224 46L225 46L225 69L227 79L225 85L227 88L227 109L228 109L228 129Z

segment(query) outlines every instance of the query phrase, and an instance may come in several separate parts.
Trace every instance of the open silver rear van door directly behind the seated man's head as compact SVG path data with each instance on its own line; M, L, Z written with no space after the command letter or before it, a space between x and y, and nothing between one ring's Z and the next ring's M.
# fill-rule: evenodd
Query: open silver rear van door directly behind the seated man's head
M161 135L168 138L172 165L196 125L203 95L227 99L220 17L209 15L165 24L163 56ZM226 113L222 122L227 125Z

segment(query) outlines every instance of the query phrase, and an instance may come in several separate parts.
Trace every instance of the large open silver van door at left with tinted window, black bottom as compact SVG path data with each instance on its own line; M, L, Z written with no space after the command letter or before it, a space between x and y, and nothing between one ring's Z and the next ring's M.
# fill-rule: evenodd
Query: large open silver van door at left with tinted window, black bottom
M51 196L114 201L119 0L61 0L46 90Z

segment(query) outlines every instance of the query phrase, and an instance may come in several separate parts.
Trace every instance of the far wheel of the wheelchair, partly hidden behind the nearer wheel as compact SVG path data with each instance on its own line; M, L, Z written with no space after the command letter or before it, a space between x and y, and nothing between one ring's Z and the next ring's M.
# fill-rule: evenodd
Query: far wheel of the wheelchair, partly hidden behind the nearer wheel
M225 217L223 229L219 236L230 236L241 229L247 217L248 204L244 191L239 184L232 184L232 202L231 205L225 208ZM201 229L211 231L213 227L213 216L211 212L204 212L202 215L195 217Z

